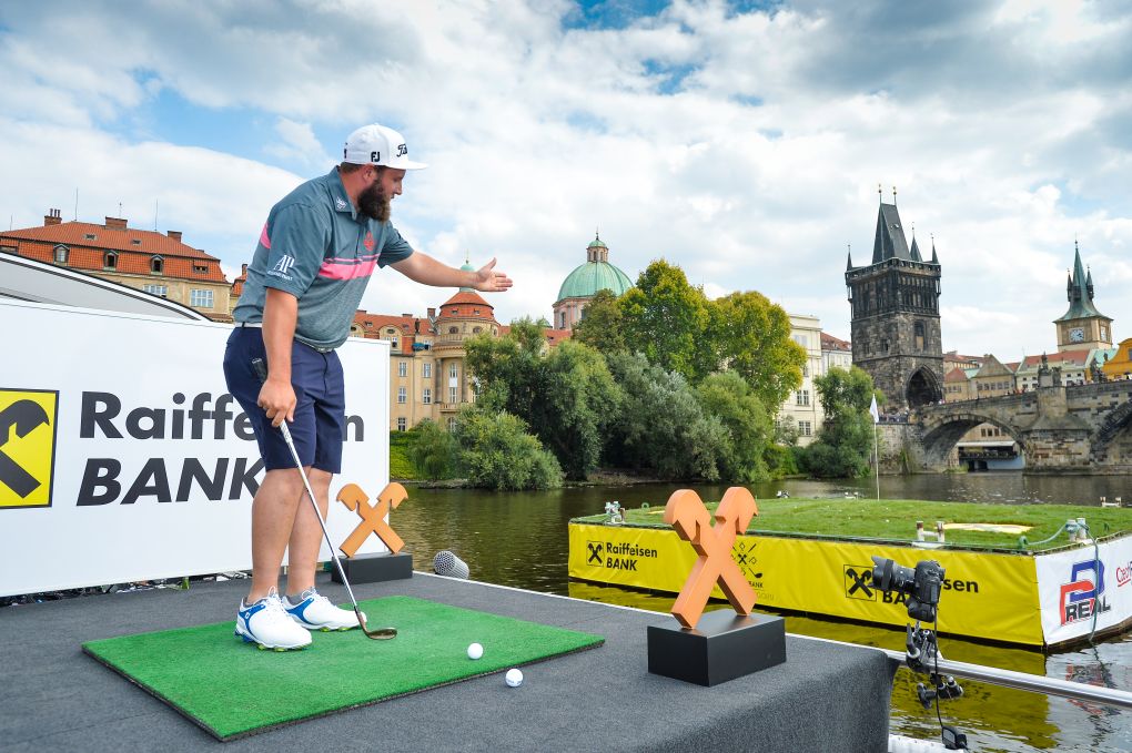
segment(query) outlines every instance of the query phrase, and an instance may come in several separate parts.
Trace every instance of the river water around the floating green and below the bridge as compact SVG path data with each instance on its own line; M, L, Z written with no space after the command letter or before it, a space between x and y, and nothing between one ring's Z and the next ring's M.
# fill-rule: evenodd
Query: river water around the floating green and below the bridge
M409 499L394 513L394 527L413 552L419 570L431 568L440 549L455 552L472 578L503 586L559 594L667 613L674 597L641 594L610 586L571 582L567 578L567 522L598 514L617 500L626 508L642 502L663 504L677 488L671 484L583 486L550 492L484 492L409 487ZM697 485L704 500L718 500L723 486ZM756 485L758 497L784 490L791 496L876 494L875 479L783 481ZM1021 473L884 476L885 499L919 499L1002 504L1092 504L1101 496L1132 502L1132 477L1043 477ZM944 608L946 605L943 605ZM791 633L878 646L903 651L899 630L833 620L787 615ZM958 661L1132 690L1132 637L1094 647L1044 656L1036 651L988 647L944 638L943 656ZM916 683L926 681L907 669L897 673L891 730L920 739L938 739L935 709L916 700ZM847 677L851 684L852 678ZM1132 751L1132 711L1120 711L1061 698L960 681L961 699L941 704L943 720L958 726L977 751ZM821 702L815 698L815 702ZM860 699L861 703L872 702Z

